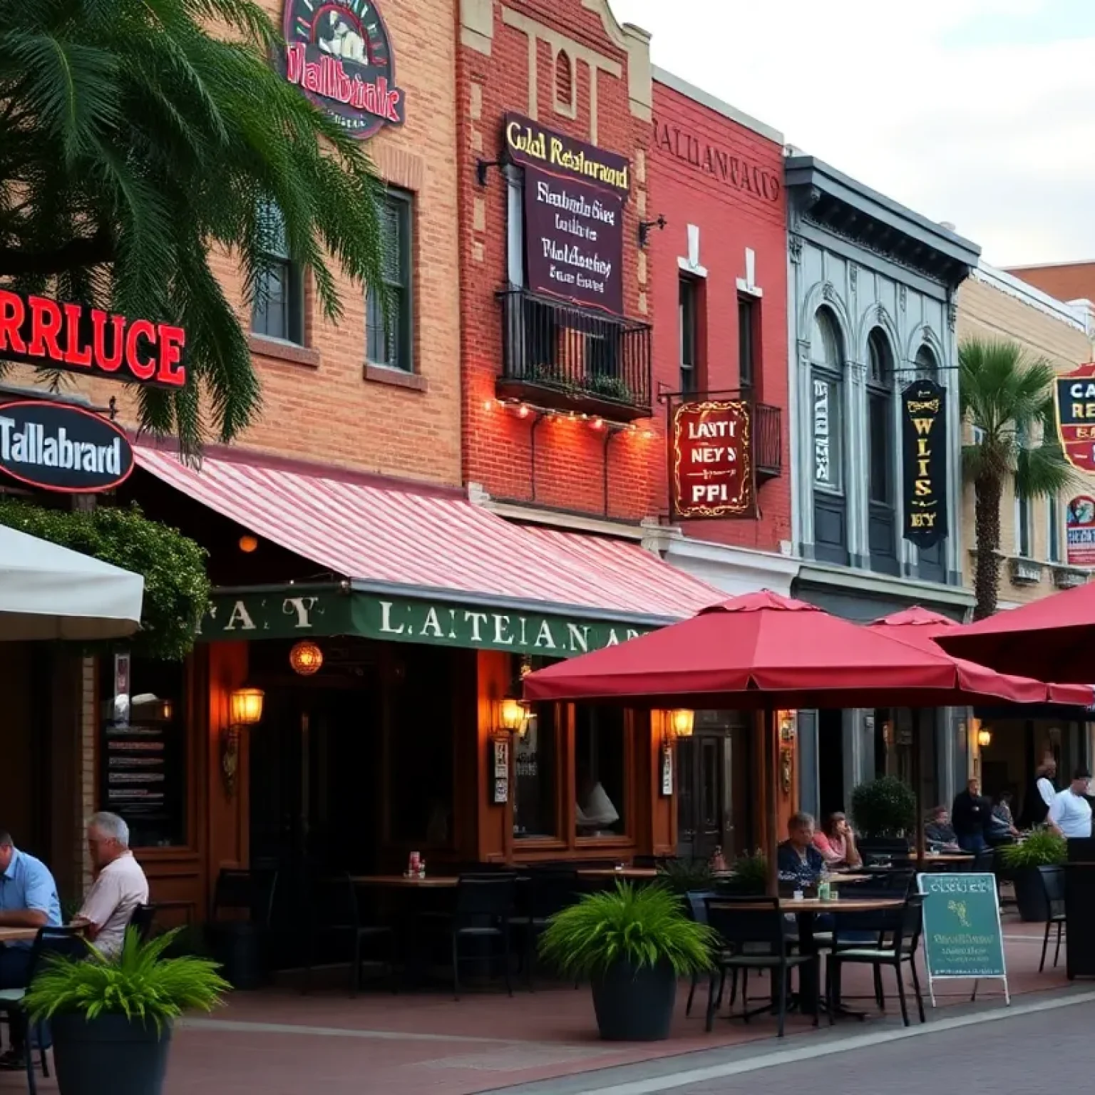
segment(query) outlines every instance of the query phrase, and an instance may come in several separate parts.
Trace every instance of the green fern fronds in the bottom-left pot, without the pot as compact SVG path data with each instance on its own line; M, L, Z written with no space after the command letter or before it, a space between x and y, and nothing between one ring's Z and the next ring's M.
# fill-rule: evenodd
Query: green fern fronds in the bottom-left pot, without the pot
M185 1011L212 1011L229 984L216 963L162 957L175 934L166 932L141 943L130 927L114 958L105 958L90 944L88 958L79 961L50 955L23 1000L32 1021L73 1012L89 1019L125 1015L162 1029Z

